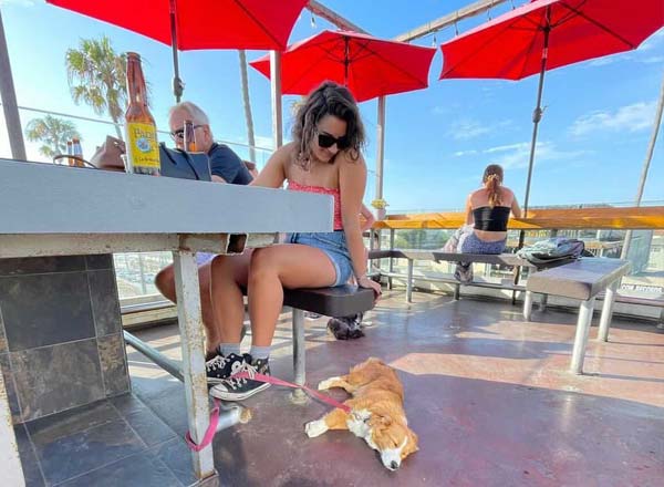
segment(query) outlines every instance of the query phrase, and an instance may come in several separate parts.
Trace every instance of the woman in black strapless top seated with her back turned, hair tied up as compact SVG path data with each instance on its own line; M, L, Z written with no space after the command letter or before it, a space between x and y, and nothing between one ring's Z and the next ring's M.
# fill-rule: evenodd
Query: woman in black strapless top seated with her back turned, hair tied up
M521 208L511 189L502 185L504 172L489 164L483 175L483 187L466 199L466 224L445 245L446 251L461 253L501 253L507 244L510 214L521 217ZM473 263L458 262L455 278L461 283L473 281Z

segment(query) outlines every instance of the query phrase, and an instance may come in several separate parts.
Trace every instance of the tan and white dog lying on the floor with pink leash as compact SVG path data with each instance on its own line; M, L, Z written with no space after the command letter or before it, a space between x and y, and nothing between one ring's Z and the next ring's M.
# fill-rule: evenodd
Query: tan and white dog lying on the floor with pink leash
M304 431L310 438L328 429L349 429L376 449L383 465L391 470L417 452L417 435L408 428L403 406L404 388L392 367L371 358L352 367L347 375L322 381L318 388L332 387L342 387L352 394L344 402L351 412L336 408L307 423Z

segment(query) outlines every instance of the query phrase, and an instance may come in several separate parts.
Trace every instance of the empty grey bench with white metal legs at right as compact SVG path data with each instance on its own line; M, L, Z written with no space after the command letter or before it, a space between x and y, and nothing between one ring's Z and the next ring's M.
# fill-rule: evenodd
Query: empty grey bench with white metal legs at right
M578 299L579 318L572 350L570 371L583 373L583 359L588 343L588 334L600 292L604 292L604 304L600 318L598 339L606 341L613 314L613 302L621 278L630 270L630 263L620 259L582 258L553 269L536 272L528 278L526 299L523 300L523 318L530 321L532 313L532 294L560 296Z

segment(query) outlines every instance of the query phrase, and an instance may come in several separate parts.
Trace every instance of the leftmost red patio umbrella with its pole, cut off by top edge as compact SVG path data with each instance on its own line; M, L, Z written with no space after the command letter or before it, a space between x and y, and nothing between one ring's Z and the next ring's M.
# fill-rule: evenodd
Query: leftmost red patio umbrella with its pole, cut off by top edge
M179 102L177 50L286 49L308 0L46 0L173 46L174 92Z

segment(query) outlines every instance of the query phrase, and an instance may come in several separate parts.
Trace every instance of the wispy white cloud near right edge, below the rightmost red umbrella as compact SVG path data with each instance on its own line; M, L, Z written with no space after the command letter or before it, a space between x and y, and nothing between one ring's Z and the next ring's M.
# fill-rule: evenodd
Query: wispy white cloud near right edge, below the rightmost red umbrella
M653 124L655 102L639 102L619 107L616 111L595 111L580 116L570 127L574 136L596 131L637 132Z

